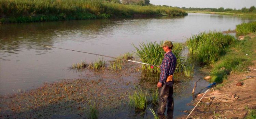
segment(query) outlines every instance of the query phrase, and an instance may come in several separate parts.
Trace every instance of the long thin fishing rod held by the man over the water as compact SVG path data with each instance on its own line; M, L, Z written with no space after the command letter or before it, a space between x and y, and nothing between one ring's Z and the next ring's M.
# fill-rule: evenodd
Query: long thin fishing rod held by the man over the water
M52 47L52 46L44 46L44 47L48 47L48 48L57 48L57 47ZM57 49L70 50L70 49L65 49L65 48L57 48ZM104 56L104 57L115 58L115 59L118 59L118 60L124 60L124 61L129 61L129 62L144 64L144 65L150 65L150 66L159 67L159 66L156 66L156 65L151 65L151 64L147 64L147 63L141 63L141 62L136 62L136 61L132 61L132 60L126 60L126 59L122 59L122 58L117 58L117 57L112 57L112 56L106 56L106 55L101 55L101 54L95 54L95 53L89 53L89 52L83 52L83 51L77 51L77 50L70 50L70 51L82 52L82 53L87 53L87 54L94 54L94 55L99 55L99 56ZM151 68L153 68L153 67L151 67Z

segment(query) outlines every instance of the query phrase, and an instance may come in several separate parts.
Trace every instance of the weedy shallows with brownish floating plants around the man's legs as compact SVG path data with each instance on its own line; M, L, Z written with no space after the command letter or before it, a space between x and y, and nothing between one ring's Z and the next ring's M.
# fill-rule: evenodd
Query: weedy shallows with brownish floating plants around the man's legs
M88 118L89 106L96 104L100 118L153 118L148 108L155 110L156 106L148 103L145 111L138 111L127 104L127 95L134 92L135 86L147 92L149 98L156 90L158 74L149 75L138 71L139 68L138 64L127 63L121 71L87 69L81 73L81 79L45 83L25 93L3 95L0 97L0 117ZM174 116L192 108L186 106L192 100L192 80L175 77ZM200 84L203 87L207 82Z

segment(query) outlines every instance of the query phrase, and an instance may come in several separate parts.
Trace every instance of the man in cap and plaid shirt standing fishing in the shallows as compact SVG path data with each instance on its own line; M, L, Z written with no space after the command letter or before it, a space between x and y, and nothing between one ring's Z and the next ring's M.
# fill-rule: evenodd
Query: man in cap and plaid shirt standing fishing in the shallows
M167 112L173 112L173 73L176 68L176 57L172 53L171 41L165 41L161 47L166 53L160 66L160 79L157 83L159 93L157 113L159 116L164 116L166 103L168 107Z

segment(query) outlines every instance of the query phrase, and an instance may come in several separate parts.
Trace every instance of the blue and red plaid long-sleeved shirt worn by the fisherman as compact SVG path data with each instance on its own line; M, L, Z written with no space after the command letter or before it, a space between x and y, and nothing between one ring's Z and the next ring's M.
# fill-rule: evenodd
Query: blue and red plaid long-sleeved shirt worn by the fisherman
M172 53L172 51L169 51L165 53L165 57L163 58L162 64L161 64L161 73L160 73L160 83L165 83L167 80L167 77L169 75L173 75L174 70L176 68L176 57Z

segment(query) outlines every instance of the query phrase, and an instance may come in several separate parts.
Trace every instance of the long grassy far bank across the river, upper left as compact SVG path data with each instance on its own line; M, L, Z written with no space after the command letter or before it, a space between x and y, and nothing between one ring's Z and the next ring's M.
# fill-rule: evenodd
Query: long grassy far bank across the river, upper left
M1 23L163 15L187 13L174 7L124 5L103 0L0 0Z

